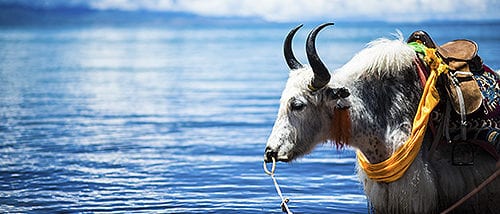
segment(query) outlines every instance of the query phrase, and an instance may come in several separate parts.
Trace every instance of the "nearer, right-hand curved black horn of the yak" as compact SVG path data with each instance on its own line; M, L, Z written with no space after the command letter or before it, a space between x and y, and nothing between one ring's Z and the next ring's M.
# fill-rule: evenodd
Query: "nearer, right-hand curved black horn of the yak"
M313 91L323 88L326 84L328 84L328 82L330 82L330 72L328 72L328 68L326 68L325 64L323 64L318 56L318 52L316 51L316 35L319 31L321 31L321 29L329 25L333 25L333 23L325 23L316 27L307 37L307 60L309 60L309 64L314 72L314 78L312 79L309 88Z

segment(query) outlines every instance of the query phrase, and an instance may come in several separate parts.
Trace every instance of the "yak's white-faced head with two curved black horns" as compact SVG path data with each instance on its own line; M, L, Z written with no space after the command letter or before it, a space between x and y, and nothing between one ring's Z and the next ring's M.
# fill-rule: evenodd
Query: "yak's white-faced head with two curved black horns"
M292 161L311 152L319 143L332 138L334 107L349 96L345 88L332 88L330 73L316 51L316 35L328 25L313 29L306 42L309 66L302 65L292 52L292 39L302 25L292 29L285 39L283 52L290 76L280 100L278 117L267 141L266 162Z

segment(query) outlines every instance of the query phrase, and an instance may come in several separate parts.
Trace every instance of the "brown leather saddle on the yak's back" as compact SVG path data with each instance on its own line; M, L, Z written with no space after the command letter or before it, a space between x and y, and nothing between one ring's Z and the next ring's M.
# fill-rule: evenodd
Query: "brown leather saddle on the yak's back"
M483 72L483 62L477 55L478 46L474 41L458 39L438 46L429 34L420 30L413 32L407 42L420 42L435 48L448 65L447 78L443 82L456 113L469 115L481 107L483 96L474 73Z

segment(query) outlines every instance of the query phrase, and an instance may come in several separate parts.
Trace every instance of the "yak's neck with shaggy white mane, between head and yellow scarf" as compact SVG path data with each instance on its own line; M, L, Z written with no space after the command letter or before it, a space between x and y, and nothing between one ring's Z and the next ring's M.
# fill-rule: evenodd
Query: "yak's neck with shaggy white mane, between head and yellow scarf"
M349 144L372 163L388 158L410 134L422 93L415 57L402 36L378 39L333 73L333 84L351 92Z

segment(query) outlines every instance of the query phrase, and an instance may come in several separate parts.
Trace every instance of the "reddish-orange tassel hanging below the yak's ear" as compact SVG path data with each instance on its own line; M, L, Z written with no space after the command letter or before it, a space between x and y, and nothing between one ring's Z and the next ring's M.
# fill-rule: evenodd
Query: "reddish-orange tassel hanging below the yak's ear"
M351 117L349 108L335 108L332 121L332 141L337 149L343 148L351 138Z

